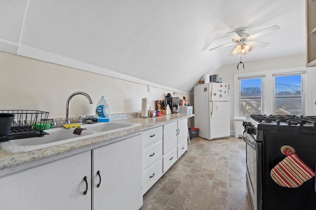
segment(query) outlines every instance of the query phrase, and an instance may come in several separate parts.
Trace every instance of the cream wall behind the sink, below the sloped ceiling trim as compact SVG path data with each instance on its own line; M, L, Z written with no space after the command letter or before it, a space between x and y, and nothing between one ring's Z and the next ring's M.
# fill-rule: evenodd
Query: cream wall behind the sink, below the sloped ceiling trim
M94 115L102 95L107 97L111 113L124 113L140 112L143 97L154 109L155 100L173 92L152 86L148 92L146 84L0 52L0 110L33 109L50 112L50 118L65 118L66 100L75 91L88 93L93 104L83 95L75 96L70 116ZM189 94L177 93L190 104Z

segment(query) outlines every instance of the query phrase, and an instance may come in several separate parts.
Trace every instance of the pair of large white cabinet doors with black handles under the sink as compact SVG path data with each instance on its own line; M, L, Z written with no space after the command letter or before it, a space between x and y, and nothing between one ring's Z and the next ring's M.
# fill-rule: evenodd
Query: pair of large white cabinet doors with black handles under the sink
M138 210L141 144L138 135L92 150L92 159L89 150L1 177L0 209Z

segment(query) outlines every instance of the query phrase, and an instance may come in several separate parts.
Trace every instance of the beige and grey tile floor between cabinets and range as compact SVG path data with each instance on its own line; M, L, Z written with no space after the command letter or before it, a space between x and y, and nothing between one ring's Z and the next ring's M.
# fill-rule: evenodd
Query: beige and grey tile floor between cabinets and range
M194 138L144 195L141 210L249 210L242 139Z

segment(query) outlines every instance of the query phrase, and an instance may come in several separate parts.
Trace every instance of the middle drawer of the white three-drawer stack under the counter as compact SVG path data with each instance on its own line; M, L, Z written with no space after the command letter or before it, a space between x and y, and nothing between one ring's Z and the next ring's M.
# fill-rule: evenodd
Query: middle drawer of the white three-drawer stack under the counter
M162 140L143 150L143 170L162 157Z

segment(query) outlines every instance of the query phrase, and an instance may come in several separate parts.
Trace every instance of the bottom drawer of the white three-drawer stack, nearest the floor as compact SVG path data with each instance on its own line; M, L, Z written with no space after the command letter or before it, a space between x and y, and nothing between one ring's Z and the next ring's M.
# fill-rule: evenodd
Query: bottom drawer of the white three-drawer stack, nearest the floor
M162 176L162 158L143 173L143 194Z

